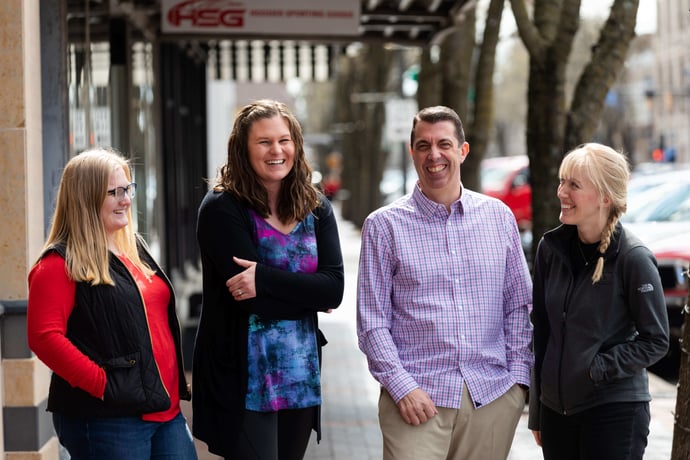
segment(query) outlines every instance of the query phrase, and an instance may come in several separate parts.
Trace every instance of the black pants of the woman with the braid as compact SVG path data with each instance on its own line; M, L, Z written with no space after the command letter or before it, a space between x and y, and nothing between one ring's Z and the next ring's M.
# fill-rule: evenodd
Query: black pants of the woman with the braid
M562 415L542 406L546 460L642 460L649 434L649 403L623 402Z

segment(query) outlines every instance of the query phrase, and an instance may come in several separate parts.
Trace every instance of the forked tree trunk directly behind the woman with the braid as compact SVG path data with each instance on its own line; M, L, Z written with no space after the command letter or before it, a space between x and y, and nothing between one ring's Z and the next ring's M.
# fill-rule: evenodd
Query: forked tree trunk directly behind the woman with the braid
M590 142L609 88L623 67L634 35L639 0L615 0L591 61L566 107L565 75L579 27L580 0L535 0L530 21L524 0L511 0L530 55L527 154L532 185L532 255L544 232L558 225L558 167L577 145Z

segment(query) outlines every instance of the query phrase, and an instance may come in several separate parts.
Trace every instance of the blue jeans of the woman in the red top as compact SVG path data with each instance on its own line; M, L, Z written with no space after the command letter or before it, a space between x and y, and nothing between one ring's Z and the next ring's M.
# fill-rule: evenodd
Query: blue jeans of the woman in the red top
M192 433L182 413L169 422L53 413L53 425L72 460L197 459Z

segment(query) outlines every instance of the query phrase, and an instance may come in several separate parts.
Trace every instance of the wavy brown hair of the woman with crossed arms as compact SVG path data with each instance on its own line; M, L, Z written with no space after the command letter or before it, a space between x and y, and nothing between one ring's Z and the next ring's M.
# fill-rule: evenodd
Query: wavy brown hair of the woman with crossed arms
M214 189L232 193L264 218L269 216L268 193L249 162L248 139L255 122L273 117L285 120L295 144L294 166L278 193L277 217L284 223L300 221L319 206L320 198L311 182L312 169L304 153L302 127L282 102L262 99L240 110L228 139L228 158L220 168Z

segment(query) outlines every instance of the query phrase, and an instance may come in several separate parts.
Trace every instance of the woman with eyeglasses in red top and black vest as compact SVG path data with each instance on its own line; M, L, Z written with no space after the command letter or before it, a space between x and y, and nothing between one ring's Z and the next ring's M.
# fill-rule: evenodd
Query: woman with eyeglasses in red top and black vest
M29 347L53 371L47 409L73 460L197 458L175 295L134 231L135 190L119 153L73 157L29 273Z

